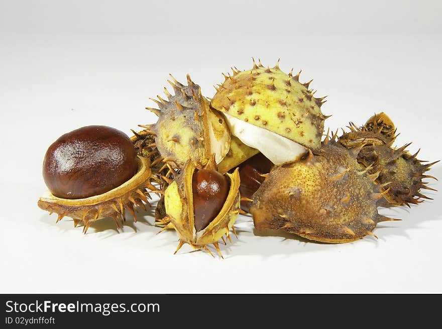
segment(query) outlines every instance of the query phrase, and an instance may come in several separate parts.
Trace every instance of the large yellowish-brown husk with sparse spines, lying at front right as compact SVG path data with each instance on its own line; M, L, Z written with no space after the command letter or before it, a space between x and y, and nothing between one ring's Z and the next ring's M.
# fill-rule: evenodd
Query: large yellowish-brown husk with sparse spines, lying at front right
M324 141L319 152L276 166L253 195L250 213L258 230L284 230L327 243L373 235L382 186L356 161L357 153Z

